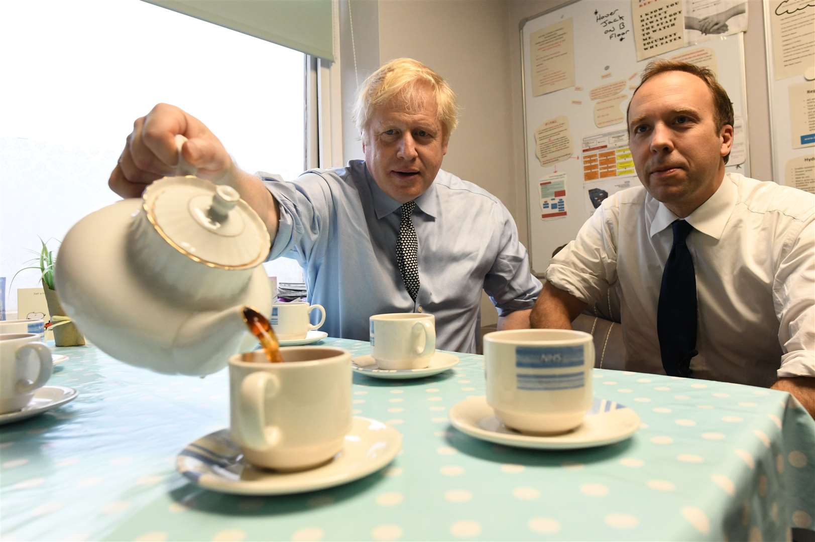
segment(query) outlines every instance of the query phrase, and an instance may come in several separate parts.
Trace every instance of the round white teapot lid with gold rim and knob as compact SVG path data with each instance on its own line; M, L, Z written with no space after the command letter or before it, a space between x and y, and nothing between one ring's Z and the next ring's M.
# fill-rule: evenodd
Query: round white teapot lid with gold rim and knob
M143 209L168 244L209 267L255 267L271 249L266 225L227 185L192 175L161 178L144 191Z

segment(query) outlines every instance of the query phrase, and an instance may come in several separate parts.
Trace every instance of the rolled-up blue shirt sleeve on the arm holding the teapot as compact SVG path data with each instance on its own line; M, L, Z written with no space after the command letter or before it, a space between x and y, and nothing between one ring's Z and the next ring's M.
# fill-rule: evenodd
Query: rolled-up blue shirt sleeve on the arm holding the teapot
M277 234L271 243L270 260L285 256L301 264L307 262L331 224L331 192L325 179L306 172L296 183L285 182L279 175L258 172L267 190L280 206Z

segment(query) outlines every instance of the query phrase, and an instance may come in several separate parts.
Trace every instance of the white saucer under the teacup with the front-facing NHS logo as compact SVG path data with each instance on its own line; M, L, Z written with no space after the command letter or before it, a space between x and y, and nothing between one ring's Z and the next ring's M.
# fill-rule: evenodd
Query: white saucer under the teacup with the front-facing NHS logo
M625 405L594 398L583 424L564 434L535 436L509 429L496 417L487 398L469 397L450 409L452 425L491 443L544 450L569 450L619 443L640 427L640 416Z

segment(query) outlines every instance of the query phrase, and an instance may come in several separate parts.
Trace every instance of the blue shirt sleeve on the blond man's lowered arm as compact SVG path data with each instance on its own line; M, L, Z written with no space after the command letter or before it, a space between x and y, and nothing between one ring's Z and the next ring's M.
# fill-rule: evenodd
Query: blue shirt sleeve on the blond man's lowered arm
M495 212L499 251L484 277L484 291L498 315L506 316L535 306L541 284L531 273L529 254L518 240L518 227L509 210L499 203Z

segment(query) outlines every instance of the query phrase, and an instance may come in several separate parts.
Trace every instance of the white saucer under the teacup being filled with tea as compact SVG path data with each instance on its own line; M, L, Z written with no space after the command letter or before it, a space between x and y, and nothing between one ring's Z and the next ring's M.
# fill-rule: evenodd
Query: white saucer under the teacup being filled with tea
M353 482L381 469L402 449L402 434L381 421L354 417L341 452L315 469L279 473L245 462L229 430L187 444L175 468L205 489L238 495L286 495Z

